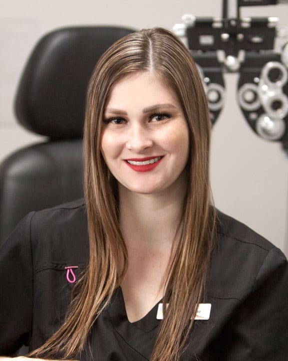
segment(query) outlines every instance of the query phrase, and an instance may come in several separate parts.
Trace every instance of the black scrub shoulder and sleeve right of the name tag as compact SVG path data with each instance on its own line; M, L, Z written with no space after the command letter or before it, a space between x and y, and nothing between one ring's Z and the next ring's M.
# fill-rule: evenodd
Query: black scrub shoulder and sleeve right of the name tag
M224 359L286 360L288 267L283 253L217 211L209 267L210 354Z

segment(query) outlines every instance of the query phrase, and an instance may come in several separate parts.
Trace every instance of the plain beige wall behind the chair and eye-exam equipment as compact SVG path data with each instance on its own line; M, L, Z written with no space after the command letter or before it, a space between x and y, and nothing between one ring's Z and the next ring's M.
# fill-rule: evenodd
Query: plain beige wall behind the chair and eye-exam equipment
M181 15L220 16L220 0L1 0L0 161L11 151L41 141L15 123L13 96L20 71L44 33L67 25L161 26L171 29ZM243 15L278 16L288 25L288 6L246 8ZM211 177L216 206L288 251L286 223L288 157L277 143L258 138L236 104L237 75L225 75L225 108L214 129Z

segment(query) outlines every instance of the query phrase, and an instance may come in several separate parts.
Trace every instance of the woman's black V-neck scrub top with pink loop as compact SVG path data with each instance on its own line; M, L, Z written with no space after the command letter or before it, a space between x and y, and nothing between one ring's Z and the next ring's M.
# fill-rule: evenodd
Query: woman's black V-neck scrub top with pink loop
M217 212L217 234L202 303L181 361L287 361L288 267L271 243ZM82 200L27 215L0 249L0 355L43 344L63 321L88 261ZM81 360L142 361L159 324L156 304L129 322L121 289L95 321Z

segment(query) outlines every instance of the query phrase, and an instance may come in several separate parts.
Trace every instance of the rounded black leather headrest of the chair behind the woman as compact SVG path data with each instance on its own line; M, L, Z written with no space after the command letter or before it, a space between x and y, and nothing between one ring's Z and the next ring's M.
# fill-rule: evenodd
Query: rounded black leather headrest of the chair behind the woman
M15 98L17 120L51 139L82 136L86 88L102 53L133 33L119 27L63 28L39 40Z

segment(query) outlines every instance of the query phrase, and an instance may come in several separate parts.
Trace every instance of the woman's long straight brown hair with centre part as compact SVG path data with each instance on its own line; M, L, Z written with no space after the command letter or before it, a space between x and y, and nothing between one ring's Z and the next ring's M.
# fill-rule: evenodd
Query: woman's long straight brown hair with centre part
M203 297L213 245L210 205L210 122L197 68L184 45L169 31L154 28L130 34L112 45L92 74L84 128L84 184L88 219L88 268L74 287L63 325L32 356L78 356L89 331L107 306L127 269L127 250L119 227L116 182L100 151L105 104L113 85L128 74L152 71L177 95L189 127L188 187L179 242L166 280L164 310L151 361L179 360L198 303ZM121 257L124 267L119 274Z

